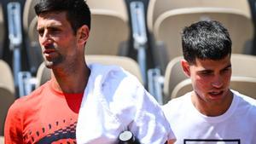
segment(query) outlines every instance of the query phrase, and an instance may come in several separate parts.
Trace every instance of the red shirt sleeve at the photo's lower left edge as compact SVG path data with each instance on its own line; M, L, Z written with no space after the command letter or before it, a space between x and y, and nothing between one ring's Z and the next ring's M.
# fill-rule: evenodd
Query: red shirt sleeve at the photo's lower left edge
M9 111L4 124L4 143L22 143L22 124L20 121L20 107L18 102L9 107Z

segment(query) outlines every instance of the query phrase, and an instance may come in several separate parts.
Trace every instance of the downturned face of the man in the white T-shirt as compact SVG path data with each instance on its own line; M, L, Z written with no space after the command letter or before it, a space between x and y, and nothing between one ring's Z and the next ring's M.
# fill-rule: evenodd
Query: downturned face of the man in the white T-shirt
M230 101L230 55L222 60L195 60L188 65L187 75L191 78L196 98L209 106L221 106Z

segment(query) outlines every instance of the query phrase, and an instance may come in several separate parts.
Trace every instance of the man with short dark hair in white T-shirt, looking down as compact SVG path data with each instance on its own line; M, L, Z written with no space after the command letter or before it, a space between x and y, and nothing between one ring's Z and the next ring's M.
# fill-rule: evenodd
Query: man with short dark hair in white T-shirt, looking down
M176 143L256 143L256 101L230 90L231 40L215 20L182 33L183 72L193 91L163 106Z

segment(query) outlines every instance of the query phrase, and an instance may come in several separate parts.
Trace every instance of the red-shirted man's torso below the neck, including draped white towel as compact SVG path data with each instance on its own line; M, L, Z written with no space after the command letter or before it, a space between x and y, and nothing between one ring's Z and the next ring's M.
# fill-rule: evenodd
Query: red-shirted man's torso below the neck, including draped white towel
M84 97L55 89L51 79L15 101L5 125L6 143L108 144L125 130L141 143L174 138L158 103L137 78L119 66L89 68Z

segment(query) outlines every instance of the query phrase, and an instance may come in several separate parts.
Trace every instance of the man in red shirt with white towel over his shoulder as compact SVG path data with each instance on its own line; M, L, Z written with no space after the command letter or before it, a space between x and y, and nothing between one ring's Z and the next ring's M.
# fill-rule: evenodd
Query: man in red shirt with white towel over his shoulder
M142 143L174 138L160 106L136 78L119 67L86 65L84 46L90 32L90 9L84 0L41 0L35 11L44 63L52 69L52 75L49 82L9 108L4 128L6 144L105 143L108 139L108 143L117 143L121 130L116 121L111 121L113 117L119 118L123 128L131 128ZM127 103L119 103L125 100ZM104 123L94 125L95 121ZM97 133L103 128L111 130ZM92 136L90 140L84 140L88 135Z

